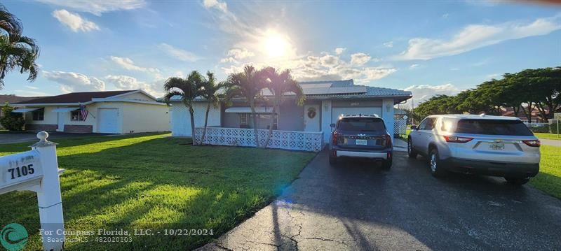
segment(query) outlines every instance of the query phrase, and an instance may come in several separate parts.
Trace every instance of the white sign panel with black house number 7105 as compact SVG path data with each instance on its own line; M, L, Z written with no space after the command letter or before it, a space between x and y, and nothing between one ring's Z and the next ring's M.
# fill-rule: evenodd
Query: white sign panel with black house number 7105
M43 168L39 151L0 157L0 194L39 184Z

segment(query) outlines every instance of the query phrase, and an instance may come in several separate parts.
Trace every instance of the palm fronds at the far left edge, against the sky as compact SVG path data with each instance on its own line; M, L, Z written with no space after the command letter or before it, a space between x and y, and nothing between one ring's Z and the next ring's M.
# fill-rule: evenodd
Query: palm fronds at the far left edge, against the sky
M22 36L22 23L0 4L0 89L4 87L4 77L9 71L19 68L20 73L29 72L27 80L37 78L39 67L35 63L39 57L39 46L33 38Z

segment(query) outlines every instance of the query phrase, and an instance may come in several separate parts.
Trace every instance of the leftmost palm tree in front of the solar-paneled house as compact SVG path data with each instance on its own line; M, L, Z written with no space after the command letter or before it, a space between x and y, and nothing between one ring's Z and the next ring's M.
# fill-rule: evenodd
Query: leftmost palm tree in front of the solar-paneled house
M201 88L203 87L203 76L198 71L191 71L187 78L173 77L165 80L163 89L165 90L165 102L170 103L172 96L181 96L181 100L189 108L189 116L191 116L191 137L193 145L196 145L195 139L195 118L193 110L193 101L196 97L201 96Z

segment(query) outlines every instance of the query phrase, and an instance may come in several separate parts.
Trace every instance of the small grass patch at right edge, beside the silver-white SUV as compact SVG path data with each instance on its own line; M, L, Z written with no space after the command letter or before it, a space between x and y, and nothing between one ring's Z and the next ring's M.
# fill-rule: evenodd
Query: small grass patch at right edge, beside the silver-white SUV
M530 184L561 199L561 148L541 145L539 174L530 179Z

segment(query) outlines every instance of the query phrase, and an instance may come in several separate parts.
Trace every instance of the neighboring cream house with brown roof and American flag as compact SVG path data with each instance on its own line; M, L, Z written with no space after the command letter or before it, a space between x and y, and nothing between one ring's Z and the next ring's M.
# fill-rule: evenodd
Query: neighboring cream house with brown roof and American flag
M142 90L72 92L12 103L26 129L72 133L129 134L169 131L169 108ZM80 106L88 111L86 120Z

